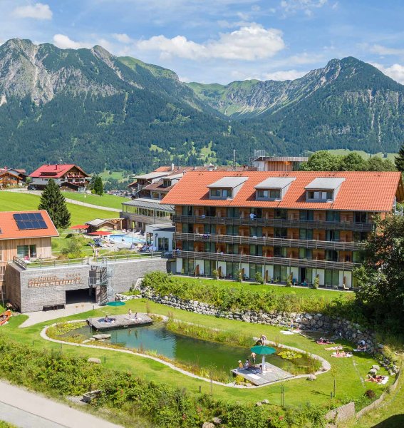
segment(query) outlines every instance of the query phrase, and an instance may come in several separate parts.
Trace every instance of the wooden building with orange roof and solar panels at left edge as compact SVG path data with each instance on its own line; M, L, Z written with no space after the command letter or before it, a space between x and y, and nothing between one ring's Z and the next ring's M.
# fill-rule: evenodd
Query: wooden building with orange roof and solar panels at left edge
M7 288L7 265L16 259L51 258L51 238L58 235L45 210L0 213L0 297Z

